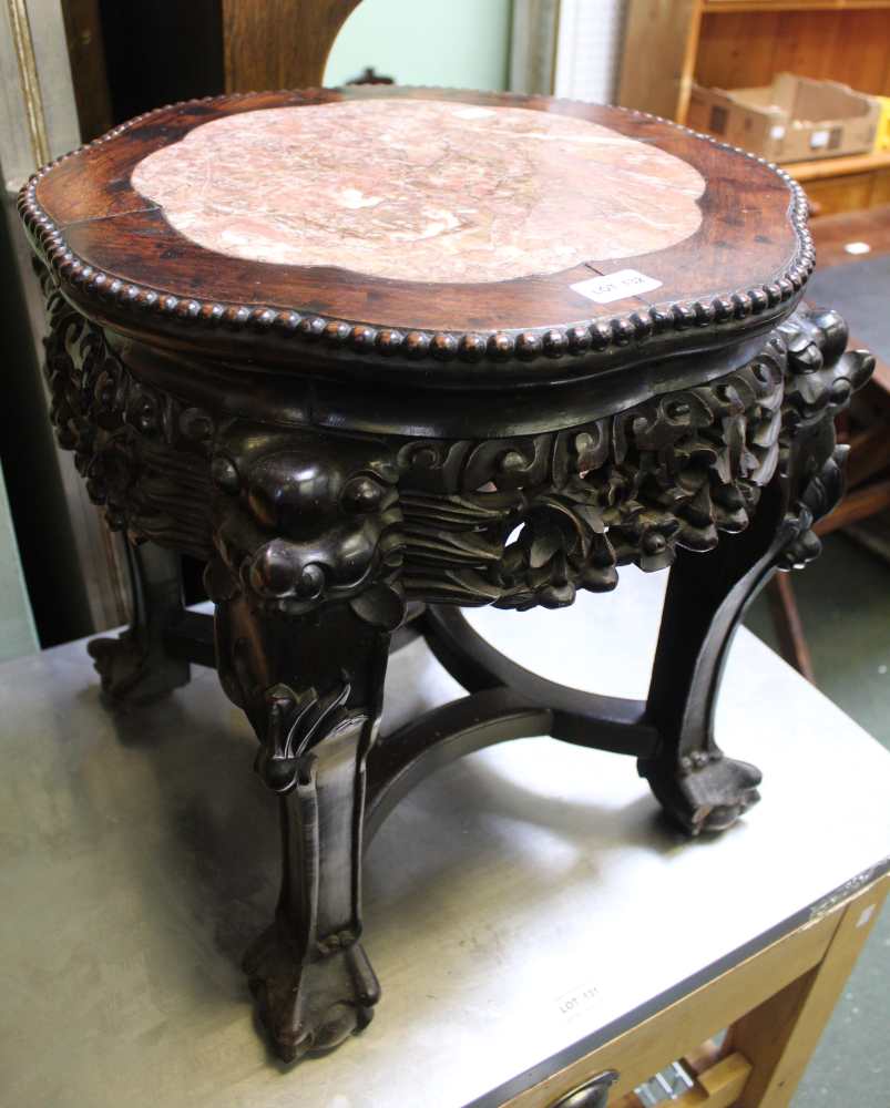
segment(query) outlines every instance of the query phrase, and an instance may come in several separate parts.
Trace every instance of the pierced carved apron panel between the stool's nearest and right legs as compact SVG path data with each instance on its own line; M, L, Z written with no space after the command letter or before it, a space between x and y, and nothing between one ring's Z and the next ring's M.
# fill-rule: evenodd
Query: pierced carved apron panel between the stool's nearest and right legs
M570 604L743 530L773 475L782 342L713 384L571 431L405 443L405 583L439 603Z

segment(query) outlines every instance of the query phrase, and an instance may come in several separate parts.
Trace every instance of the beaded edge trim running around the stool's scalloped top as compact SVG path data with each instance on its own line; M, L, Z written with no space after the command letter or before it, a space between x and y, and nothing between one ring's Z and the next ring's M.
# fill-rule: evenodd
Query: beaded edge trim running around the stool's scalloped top
M291 90L280 91L290 92ZM300 89L296 91L313 93L325 90ZM453 90L423 86L417 91ZM43 260L57 277L82 289L98 300L132 308L141 314L153 311L183 322L203 324L209 327L222 325L229 330L249 329L257 332L274 329L283 336L299 336L313 340L324 339L326 345L335 349L347 348L361 353L401 355L410 359L432 357L439 361L451 361L458 358L464 362L478 362L483 358L492 361L509 361L512 358L531 361L540 356L560 358L563 355L600 353L610 347L626 347L633 341L642 342L652 335L661 335L665 331L738 325L749 316L758 316L768 308L777 307L795 297L806 285L816 264L812 237L807 226L809 203L804 189L788 173L773 162L767 162L766 158L751 154L739 146L732 146L728 143L719 142L712 135L693 131L692 127L683 126L672 120L665 120L648 112L638 112L634 109L621 110L638 119L666 124L683 134L692 135L720 150L739 154L765 165L788 186L791 196L789 216L797 236L798 249L790 266L781 277L767 285L749 288L744 293L715 297L709 302L700 300L676 302L668 308L633 311L624 316L616 316L611 320L590 319L567 327L511 328L485 334L398 330L331 318L315 312L299 312L263 305L250 307L245 304L218 304L191 297L177 297L145 285L121 280L113 274L91 266L74 254L65 243L62 230L37 199L37 186L51 170L70 157L75 157L84 151L116 138L136 124L144 123L146 120L172 109L187 107L193 104L221 104L244 100L252 95L256 95L256 93L226 93L155 107L112 127L111 131L92 142L85 143L68 154L62 154L41 166L22 186L18 198L18 209ZM499 95L514 100L526 99L521 93L500 93ZM567 99L559 99L557 102L584 104L583 101Z

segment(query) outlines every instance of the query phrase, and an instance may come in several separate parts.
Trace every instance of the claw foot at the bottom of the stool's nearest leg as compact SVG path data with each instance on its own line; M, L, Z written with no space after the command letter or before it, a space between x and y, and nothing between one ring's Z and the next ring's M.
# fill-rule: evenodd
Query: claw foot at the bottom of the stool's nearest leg
M329 1050L362 1030L380 998L358 943L303 962L296 945L273 925L247 952L244 968L259 1019L283 1061Z

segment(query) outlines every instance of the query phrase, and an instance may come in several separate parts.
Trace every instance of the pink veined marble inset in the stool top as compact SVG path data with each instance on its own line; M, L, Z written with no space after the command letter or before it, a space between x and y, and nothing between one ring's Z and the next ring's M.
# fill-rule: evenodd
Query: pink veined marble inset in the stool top
M197 245L401 281L501 281L674 246L692 165L571 115L368 99L243 112L139 162L132 185Z

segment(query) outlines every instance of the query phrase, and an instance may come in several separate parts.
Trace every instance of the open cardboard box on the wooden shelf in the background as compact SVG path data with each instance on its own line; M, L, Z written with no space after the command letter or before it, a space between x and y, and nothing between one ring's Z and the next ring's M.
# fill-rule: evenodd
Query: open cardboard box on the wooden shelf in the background
M757 89L694 85L686 122L770 162L805 162L871 151L879 117L877 96L779 73Z

